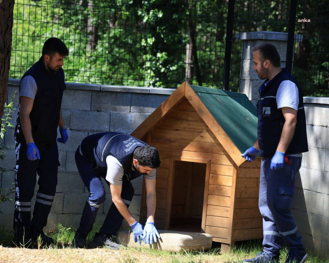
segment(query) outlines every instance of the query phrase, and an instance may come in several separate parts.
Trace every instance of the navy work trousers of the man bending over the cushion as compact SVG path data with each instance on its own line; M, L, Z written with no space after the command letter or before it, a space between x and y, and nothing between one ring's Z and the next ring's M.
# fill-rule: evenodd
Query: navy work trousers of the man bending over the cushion
M80 220L79 232L88 234L95 222L97 211L105 201L105 190L101 177L105 179L105 173L99 173L92 167L91 162L81 155L79 147L75 152L75 162L78 167L82 181L89 191L89 197L83 209ZM109 185L109 183L108 183ZM134 187L130 181L123 181L121 198L129 207L134 196ZM99 230L101 233L115 235L122 225L123 217L114 205L111 204L109 212L106 215L104 224Z

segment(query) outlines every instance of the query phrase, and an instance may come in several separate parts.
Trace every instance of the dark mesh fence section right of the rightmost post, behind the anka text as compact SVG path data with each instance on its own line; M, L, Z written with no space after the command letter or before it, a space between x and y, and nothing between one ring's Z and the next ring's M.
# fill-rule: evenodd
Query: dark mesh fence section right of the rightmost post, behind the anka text
M292 74L304 96L329 97L328 1L299 1L295 32L303 40L295 43Z

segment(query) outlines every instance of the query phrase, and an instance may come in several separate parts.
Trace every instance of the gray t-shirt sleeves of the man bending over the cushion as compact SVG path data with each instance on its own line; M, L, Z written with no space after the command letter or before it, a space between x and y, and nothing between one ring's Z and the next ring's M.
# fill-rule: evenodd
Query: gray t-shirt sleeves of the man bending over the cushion
M106 157L107 173L106 180L114 185L122 185L123 166L113 155ZM132 167L133 169L133 167ZM149 174L145 175L146 179L155 179L157 170L153 169Z

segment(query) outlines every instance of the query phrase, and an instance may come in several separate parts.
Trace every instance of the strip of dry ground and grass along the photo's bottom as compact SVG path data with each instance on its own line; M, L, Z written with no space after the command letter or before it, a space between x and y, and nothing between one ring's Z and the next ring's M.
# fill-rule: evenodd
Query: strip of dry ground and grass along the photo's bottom
M95 224L91 233L87 237L87 245L92 240L94 234L99 231L99 224ZM58 230L55 232L46 233L51 236L55 244L49 247L43 247L47 255L51 257L57 257L62 259L63 255L71 262L108 262L109 255L116 262L169 262L169 263L199 263L199 262L224 262L224 263L235 263L241 262L244 258L252 258L262 250L261 240L251 241L240 241L236 242L236 246L225 254L220 254L220 243L213 242L213 247L209 251L202 252L169 252L169 251L158 251L148 248L122 248L118 251L113 251L108 248L101 249L103 255L95 255L95 258L90 258L94 253L99 253L99 249L81 249L76 250L72 248L72 239L74 237L76 229L73 227L65 227L63 225L58 226ZM12 244L12 233L8 232L5 228L0 228L0 244L2 246L13 246ZM40 250L36 250L40 251ZM78 252L79 251L79 252ZM288 250L284 248L281 250L280 262L285 262L286 254ZM81 255L82 253L82 255ZM329 263L328 257L320 256L319 254L308 251L310 259L308 262L314 263ZM88 255L88 258L86 256ZM153 261L152 261L153 260Z

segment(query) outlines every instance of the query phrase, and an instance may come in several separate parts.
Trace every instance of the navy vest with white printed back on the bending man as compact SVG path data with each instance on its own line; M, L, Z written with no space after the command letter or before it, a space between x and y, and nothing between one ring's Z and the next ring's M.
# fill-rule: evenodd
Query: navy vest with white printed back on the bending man
M97 171L106 173L106 157L113 155L123 166L123 180L132 180L141 174L133 170L133 155L137 147L147 145L143 141L119 132L102 132L83 139L81 152Z

